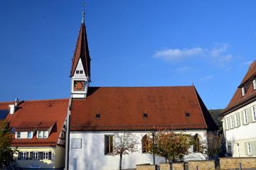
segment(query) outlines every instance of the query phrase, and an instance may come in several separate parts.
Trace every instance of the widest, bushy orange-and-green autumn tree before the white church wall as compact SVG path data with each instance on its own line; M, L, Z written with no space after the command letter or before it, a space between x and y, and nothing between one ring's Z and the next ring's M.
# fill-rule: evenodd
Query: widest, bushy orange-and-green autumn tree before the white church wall
M182 159L188 154L188 149L193 144L191 135L184 132L174 132L174 130L158 130L149 132L149 142L144 142L144 148L149 150L150 154L164 157L167 161L173 161L176 158Z

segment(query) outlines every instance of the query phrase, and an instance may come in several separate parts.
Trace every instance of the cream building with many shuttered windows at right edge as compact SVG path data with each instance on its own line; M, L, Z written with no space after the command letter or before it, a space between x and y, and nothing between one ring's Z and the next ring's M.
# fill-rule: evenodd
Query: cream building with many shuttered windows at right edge
M256 157L256 60L233 98L220 114L227 152L233 157Z

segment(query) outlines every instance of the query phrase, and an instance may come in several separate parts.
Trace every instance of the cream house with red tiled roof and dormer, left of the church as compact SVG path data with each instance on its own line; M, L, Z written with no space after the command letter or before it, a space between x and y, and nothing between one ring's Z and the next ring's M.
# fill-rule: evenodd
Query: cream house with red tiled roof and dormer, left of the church
M64 169L68 98L0 103L14 135L16 169Z

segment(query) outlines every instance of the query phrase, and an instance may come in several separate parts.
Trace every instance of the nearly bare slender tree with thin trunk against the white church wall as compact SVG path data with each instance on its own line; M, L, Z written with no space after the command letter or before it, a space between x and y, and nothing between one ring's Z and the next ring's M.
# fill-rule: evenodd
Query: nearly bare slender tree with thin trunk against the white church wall
M114 155L119 155L119 170L122 169L122 156L138 151L138 137L130 132L114 135Z

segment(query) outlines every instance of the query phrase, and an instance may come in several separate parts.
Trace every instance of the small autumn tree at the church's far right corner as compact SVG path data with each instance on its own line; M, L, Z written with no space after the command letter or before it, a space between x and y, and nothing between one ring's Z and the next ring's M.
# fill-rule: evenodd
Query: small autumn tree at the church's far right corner
M205 144L202 147L210 159L213 159L218 153L222 152L223 134L219 132L208 132L207 141L207 147L204 147L206 146Z

